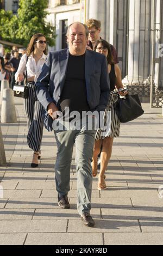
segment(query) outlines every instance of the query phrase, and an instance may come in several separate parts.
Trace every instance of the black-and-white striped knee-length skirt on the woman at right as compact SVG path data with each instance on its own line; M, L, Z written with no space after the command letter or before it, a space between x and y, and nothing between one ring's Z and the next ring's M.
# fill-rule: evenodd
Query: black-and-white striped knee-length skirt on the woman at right
M120 136L120 119L117 117L115 103L118 100L118 95L111 94L108 106L104 112L105 129L99 128L96 132L95 139L104 139L105 137L119 137Z

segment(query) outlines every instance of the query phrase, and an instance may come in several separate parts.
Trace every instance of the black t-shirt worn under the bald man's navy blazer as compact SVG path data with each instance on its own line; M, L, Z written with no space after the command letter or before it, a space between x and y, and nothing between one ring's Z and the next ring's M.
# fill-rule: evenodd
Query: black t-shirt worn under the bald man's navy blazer
M80 115L82 111L89 111L86 99L85 54L81 56L70 54L68 58L67 74L61 93L60 107L63 115L65 107L70 108L70 113L78 111Z

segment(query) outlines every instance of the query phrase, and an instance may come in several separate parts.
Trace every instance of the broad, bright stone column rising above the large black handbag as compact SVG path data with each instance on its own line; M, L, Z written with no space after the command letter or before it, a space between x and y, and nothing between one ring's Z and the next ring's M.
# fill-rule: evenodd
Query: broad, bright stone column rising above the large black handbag
M128 72L131 86L149 83L151 1L129 1Z

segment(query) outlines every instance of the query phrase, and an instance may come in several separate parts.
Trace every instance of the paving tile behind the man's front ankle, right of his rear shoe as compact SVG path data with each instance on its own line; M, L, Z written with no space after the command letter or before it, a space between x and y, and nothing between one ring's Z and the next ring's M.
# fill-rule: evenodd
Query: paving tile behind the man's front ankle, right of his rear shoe
M76 208L76 198L70 198L71 208ZM131 205L130 198L92 198L92 208L122 208L130 209Z

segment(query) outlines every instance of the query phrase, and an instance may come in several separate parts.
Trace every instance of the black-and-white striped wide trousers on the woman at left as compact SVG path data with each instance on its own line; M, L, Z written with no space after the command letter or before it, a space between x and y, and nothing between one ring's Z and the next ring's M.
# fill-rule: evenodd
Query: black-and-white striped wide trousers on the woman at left
M27 143L29 148L39 151L43 133L42 105L37 99L35 83L28 83L29 96L24 99L24 107L27 115L28 135Z

